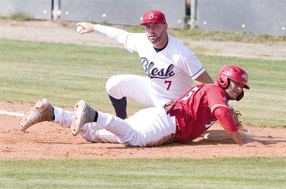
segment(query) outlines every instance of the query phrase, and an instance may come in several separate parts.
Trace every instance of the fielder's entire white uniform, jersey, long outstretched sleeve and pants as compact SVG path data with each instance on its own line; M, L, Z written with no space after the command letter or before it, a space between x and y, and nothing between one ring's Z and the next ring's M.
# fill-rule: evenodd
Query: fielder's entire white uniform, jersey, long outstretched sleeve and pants
M113 27L95 25L98 31L125 45L130 52L138 52L149 80L135 75L116 75L106 83L110 96L127 97L147 107L162 106L181 96L194 85L204 71L196 55L168 34L168 45L156 52L145 33L129 33Z

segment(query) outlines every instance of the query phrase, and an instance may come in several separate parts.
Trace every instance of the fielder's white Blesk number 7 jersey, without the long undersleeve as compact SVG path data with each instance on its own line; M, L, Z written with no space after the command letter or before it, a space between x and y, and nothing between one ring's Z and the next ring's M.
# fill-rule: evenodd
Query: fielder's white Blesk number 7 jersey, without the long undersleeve
M168 45L156 52L144 33L130 33L125 47L138 52L146 75L151 79L152 93L176 99L194 85L194 80L204 71L196 55L168 34Z

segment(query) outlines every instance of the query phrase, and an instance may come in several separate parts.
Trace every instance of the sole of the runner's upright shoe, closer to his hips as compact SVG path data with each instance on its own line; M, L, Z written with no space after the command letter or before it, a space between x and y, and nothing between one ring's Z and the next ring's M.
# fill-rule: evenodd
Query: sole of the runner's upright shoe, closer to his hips
M70 124L70 131L71 133L76 136L79 134L79 130L85 123L85 112L83 111L86 106L86 102L83 100L80 100L76 103L74 108L74 119Z

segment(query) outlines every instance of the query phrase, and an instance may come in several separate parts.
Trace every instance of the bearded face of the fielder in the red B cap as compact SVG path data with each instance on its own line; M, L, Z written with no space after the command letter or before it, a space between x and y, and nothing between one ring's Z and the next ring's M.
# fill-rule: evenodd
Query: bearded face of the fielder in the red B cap
M166 23L151 22L145 24L145 33L149 41L153 44L161 41L166 32Z

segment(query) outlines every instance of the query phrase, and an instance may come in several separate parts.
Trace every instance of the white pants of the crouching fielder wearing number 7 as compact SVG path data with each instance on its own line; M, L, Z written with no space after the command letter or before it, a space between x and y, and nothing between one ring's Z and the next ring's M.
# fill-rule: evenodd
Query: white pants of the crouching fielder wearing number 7
M174 99L154 95L148 77L136 75L116 75L106 82L107 93L115 99L126 97L146 107L159 107Z

